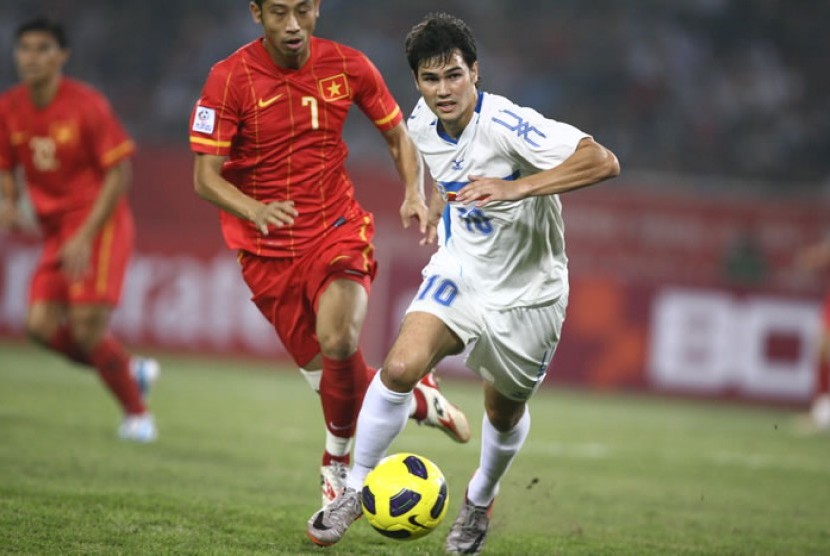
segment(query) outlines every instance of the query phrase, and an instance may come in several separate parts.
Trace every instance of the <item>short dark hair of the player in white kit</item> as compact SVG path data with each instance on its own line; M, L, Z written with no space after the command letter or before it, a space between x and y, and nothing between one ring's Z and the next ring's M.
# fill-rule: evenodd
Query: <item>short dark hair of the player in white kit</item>
M478 60L473 32L461 19L446 13L428 14L406 36L406 59L412 73L426 60L447 63L456 50L469 67Z

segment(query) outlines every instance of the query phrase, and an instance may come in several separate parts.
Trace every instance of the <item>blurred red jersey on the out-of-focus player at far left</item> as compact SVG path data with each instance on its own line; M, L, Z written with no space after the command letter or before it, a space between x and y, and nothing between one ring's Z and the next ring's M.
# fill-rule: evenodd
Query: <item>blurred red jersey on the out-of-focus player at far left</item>
M107 99L89 85L62 77L43 108L22 84L0 96L0 169L23 167L46 233L67 217L85 217L106 171L134 151Z

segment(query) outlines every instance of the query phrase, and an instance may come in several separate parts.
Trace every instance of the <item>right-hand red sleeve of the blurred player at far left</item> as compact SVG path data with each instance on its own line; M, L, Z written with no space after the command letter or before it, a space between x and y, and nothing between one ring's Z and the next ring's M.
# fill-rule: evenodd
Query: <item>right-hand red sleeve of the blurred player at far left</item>
M109 101L93 93L85 102L89 141L101 168L111 168L135 153L135 143L124 130Z

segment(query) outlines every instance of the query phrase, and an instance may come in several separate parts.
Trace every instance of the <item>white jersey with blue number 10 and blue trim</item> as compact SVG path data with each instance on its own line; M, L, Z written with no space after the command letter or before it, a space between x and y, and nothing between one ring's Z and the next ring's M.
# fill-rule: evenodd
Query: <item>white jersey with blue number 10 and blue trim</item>
M485 207L454 201L470 175L518 179L561 164L586 133L510 100L479 93L457 141L420 99L408 121L433 180L448 200L433 258L458 264L458 276L491 309L550 303L568 292L562 205L557 195Z

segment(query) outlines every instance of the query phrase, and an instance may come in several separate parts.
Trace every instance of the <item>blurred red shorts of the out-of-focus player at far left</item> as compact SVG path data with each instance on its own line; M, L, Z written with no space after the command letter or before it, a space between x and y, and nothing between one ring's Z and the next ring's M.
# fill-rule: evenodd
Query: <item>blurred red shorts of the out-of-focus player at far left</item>
M92 243L90 271L82 279L72 282L61 270L59 253L79 225L80 222L64 223L59 230L47 233L43 253L32 276L29 303L118 304L135 239L132 215L126 207L116 210Z

